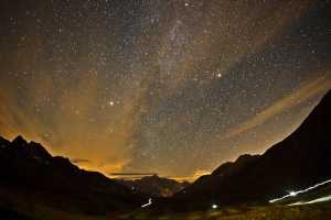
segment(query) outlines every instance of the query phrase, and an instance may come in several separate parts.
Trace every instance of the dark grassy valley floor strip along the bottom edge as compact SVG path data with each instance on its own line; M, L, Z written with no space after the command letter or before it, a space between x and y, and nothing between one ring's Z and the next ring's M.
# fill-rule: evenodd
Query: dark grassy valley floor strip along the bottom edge
M186 213L157 213L136 210L128 213L107 213L105 216L86 216L70 213L43 206L11 210L1 208L1 219L9 220L330 220L331 202L309 206L260 206L260 207L228 207L217 210L186 212Z

